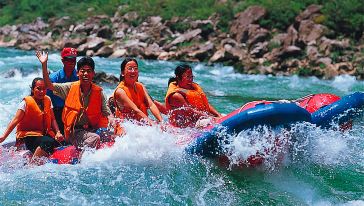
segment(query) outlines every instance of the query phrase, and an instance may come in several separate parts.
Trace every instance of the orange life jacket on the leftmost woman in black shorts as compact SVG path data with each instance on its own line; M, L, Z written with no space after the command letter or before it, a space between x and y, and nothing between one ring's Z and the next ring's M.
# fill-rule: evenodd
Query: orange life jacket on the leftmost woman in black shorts
M39 108L32 96L24 98L25 114L16 128L16 138L21 139L26 136L55 136L51 129L52 108L51 99L45 96L43 99L43 111Z

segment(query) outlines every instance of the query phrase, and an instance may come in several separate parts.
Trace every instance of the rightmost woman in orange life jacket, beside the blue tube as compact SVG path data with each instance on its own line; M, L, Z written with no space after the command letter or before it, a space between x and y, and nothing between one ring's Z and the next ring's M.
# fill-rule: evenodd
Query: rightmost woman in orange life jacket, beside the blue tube
M193 82L192 69L183 64L176 67L175 77L168 81L168 90L165 105L155 101L158 108L169 113L169 122L173 126L198 127L197 122L211 117L222 117L216 109L209 104L202 88Z

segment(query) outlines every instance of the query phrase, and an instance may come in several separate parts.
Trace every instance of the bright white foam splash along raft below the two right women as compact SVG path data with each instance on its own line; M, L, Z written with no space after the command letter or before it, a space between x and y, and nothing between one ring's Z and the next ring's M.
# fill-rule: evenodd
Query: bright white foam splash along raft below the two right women
M106 161L158 162L178 158L183 147L176 145L173 134L163 132L159 126L139 126L131 122L123 124L126 135L116 139L111 148L86 152L82 164Z

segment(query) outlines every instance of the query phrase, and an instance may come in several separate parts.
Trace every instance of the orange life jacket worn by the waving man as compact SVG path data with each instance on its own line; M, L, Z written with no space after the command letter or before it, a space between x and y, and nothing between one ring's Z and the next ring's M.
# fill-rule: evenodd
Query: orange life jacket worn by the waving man
M88 105L81 103L80 81L74 82L66 97L65 105L62 113L62 121L64 123L64 133L68 140L73 128L78 121L80 114L83 112L87 116L88 126L98 129L108 126L107 117L102 114L102 88L93 84Z

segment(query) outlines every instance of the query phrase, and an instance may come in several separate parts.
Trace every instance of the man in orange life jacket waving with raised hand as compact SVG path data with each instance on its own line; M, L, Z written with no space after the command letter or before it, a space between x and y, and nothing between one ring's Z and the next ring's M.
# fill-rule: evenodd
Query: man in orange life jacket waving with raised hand
M108 127L111 112L102 88L92 83L95 62L91 57L83 57L77 62L79 81L52 83L47 71L48 53L37 51L36 56L42 64L46 87L65 100L62 121L66 141L78 148L96 148L100 143L96 131Z

